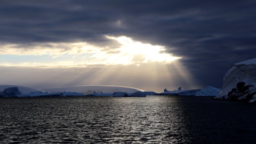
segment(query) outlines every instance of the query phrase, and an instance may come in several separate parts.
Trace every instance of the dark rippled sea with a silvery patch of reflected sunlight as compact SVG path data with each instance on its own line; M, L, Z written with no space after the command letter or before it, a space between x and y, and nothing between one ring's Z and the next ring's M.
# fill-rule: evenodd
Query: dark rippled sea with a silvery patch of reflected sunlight
M256 105L213 97L0 98L0 143L255 143Z

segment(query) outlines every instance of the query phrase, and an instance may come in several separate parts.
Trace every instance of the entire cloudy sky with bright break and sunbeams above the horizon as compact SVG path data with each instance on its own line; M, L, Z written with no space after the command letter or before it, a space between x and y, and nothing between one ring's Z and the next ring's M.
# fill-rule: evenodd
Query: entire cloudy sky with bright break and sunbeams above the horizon
M255 1L0 1L0 84L221 88L255 58Z

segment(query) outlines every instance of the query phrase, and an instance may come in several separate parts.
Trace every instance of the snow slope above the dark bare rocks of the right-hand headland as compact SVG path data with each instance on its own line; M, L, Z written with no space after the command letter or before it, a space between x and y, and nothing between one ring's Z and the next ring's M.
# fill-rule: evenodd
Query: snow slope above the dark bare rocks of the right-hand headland
M228 93L236 89L239 82L244 82L245 85L256 85L256 58L232 65L223 78L221 93L215 98L227 99Z

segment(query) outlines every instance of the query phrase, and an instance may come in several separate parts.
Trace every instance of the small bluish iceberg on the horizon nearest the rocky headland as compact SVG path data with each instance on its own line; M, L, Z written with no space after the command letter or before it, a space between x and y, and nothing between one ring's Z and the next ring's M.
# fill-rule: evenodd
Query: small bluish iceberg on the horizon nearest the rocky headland
M221 89L217 89L213 86L206 86L205 89L196 92L195 96L217 96L220 92Z

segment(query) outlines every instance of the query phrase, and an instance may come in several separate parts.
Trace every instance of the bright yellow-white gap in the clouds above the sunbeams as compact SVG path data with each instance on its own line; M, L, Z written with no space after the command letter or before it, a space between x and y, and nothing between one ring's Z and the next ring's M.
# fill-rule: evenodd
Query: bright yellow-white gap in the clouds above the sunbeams
M86 67L88 65L141 65L171 63L180 57L165 52L164 46L145 44L121 36L106 36L119 47L98 47L86 42L2 44L0 66Z

